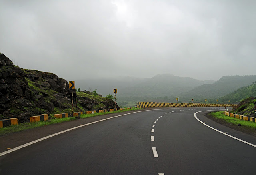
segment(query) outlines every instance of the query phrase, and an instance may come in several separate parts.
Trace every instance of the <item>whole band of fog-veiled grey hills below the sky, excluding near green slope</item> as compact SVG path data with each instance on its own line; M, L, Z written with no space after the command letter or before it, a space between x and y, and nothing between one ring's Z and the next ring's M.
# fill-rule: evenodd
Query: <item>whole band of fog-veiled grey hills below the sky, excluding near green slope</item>
M195 102L214 103L232 91L252 84L256 76L223 76L218 81L196 80L190 77L174 76L172 74L158 74L152 78L118 77L102 79L76 80L76 88L93 91L106 96L113 93L113 88L118 89L117 98L120 105L134 105L138 101L155 102Z

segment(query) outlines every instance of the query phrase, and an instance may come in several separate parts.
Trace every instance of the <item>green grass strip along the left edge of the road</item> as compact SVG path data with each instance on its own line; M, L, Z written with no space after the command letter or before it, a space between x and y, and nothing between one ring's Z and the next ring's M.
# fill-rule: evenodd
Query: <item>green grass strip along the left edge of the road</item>
M120 112L125 112L125 111L135 111L135 110L140 110L140 109L142 109L142 108L126 109L123 111L114 111L114 112L105 112L105 113L82 114L81 118L85 119L88 117L95 117L98 115L106 115L106 114L110 114L110 113L120 113ZM34 122L34 123L19 123L18 125L11 125L8 127L0 128L0 136L6 135L9 133L18 132L18 131L24 131L26 129L32 129L32 128L36 128L36 127L42 127L42 126L46 126L46 125L52 125L55 123L62 123L62 122L67 122L67 121L72 121L72 120L76 120L75 117L68 117L68 118L63 118L63 119L52 118L47 121L38 121L38 122Z

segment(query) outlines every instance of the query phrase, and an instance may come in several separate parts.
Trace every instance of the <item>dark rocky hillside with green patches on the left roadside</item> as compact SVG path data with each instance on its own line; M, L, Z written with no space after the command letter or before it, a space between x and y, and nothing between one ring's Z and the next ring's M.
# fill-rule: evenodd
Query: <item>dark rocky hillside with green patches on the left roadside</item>
M68 82L55 74L19 68L0 54L0 119L16 117L22 123L43 113L71 115L71 92ZM114 108L111 99L88 91L73 91L73 98L74 111Z

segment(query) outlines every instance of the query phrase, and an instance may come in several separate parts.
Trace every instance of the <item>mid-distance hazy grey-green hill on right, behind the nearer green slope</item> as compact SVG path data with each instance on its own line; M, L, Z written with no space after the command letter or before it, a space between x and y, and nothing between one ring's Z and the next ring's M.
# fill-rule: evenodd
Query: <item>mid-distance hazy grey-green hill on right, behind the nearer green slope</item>
M252 76L223 76L213 84L198 86L187 93L182 94L182 99L218 99L236 89L248 86L256 81L256 75Z

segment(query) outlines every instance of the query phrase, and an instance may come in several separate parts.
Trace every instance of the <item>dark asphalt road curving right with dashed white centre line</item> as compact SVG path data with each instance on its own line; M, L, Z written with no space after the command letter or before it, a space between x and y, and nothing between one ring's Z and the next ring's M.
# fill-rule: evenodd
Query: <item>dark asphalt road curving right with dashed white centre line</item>
M256 174L256 147L214 131L194 113L223 108L142 111L68 131L0 157L1 175ZM256 138L204 117L206 124ZM36 134L36 133L35 133Z

